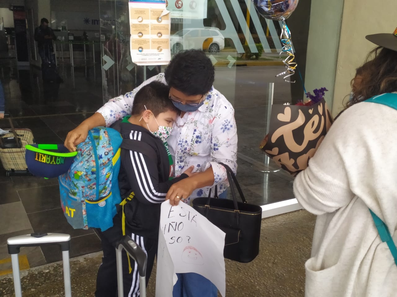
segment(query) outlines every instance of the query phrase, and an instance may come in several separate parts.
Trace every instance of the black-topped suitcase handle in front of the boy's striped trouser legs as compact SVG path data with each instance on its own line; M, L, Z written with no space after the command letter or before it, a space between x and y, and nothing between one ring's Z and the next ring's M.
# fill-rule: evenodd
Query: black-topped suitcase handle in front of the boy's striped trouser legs
M121 262L121 251L125 250L137 262L139 270L139 293L146 297L146 260L145 251L137 245L129 236L124 236L116 245L117 282L119 297L124 296L123 289L123 263Z

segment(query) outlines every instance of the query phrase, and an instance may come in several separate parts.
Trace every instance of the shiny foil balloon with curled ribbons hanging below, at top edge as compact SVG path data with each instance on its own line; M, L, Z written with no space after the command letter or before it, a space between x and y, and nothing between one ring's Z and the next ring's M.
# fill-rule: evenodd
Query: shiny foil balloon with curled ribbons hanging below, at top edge
M266 19L286 20L297 8L299 0L251 0L256 10Z

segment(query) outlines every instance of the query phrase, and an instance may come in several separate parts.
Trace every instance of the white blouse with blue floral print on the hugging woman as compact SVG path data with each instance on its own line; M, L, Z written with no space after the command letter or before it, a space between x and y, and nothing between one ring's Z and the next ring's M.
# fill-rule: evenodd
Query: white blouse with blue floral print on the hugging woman
M98 109L97 112L104 117L106 126L131 114L135 94L142 86L152 81L166 84L164 73L149 78L125 95L110 99ZM214 87L206 94L204 104L198 110L186 112L183 118L177 118L167 143L175 159L175 176L181 175L191 165L195 166L193 172L205 171L212 166L214 185L218 185L218 194L229 186L226 170L218 162L227 164L236 172L237 128L233 107ZM189 203L196 197L208 196L210 188L194 190L185 202Z

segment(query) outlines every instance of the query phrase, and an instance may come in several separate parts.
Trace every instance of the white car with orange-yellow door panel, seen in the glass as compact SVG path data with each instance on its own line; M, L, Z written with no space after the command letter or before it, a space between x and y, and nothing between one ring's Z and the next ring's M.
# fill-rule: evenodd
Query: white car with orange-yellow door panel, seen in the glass
M171 35L171 51L177 53L182 49L202 49L217 53L225 48L225 38L218 28L188 28Z

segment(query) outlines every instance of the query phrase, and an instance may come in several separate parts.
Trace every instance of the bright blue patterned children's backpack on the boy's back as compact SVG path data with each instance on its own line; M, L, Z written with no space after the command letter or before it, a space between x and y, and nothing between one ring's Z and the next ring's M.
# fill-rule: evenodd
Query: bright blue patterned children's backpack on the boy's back
M116 204L121 202L118 174L122 141L115 129L90 130L77 146L69 171L60 175L61 206L73 228L104 231L113 226Z

